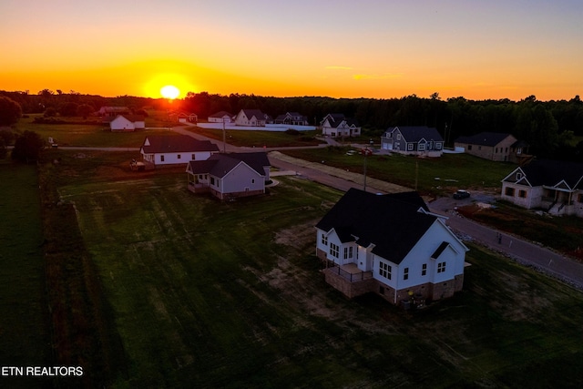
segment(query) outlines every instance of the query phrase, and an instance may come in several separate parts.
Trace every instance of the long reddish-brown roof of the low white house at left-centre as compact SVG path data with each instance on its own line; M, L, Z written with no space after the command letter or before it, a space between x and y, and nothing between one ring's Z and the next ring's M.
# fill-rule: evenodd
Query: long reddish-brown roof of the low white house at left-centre
M148 135L141 148L146 154L219 151L210 140L199 140L188 135Z

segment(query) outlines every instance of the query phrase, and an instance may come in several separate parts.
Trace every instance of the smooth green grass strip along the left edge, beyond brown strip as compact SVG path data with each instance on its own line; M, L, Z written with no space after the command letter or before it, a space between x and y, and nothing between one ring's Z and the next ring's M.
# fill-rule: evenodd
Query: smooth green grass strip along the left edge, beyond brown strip
M50 365L36 166L0 163L0 365ZM29 380L5 387L34 387Z

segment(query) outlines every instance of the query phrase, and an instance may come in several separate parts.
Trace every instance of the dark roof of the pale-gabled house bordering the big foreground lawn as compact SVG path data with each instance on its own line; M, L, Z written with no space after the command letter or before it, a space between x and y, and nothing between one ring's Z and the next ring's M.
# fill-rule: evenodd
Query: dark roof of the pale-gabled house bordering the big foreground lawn
M264 152L257 153L231 153L231 154L213 154L206 160L189 161L189 171L193 174L209 173L212 176L222 178L230 170L235 169L241 162L245 163L259 175L265 176L264 167L270 166L267 154Z

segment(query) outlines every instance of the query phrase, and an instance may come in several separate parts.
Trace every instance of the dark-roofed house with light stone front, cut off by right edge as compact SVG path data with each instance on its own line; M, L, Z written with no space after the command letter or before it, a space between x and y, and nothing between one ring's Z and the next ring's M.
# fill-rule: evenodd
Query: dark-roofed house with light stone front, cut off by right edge
M502 179L501 199L529 210L583 218L583 164L533 160Z

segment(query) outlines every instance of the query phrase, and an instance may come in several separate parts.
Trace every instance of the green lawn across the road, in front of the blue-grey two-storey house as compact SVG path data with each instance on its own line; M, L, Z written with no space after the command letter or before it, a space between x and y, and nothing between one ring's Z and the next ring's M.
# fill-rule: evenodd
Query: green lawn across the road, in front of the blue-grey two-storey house
M347 155L351 149L329 147L282 152L295 158L323 161L327 165L362 173L364 158L358 153ZM408 188L414 188L416 180L421 193L434 196L450 195L457 188L499 190L500 181L513 169L516 169L514 164L492 162L467 154L444 154L438 159L418 159L400 154L373 155L366 160L367 175L370 177Z

